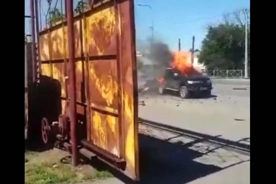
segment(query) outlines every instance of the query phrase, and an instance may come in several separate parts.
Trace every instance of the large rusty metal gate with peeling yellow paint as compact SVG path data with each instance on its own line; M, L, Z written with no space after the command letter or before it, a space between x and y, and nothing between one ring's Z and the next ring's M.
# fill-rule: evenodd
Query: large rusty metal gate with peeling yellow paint
M133 11L133 0L101 1L74 17L74 72L77 120L87 130L80 141L139 179ZM73 92L67 80L66 25L60 22L39 33L41 74L60 82L62 114Z

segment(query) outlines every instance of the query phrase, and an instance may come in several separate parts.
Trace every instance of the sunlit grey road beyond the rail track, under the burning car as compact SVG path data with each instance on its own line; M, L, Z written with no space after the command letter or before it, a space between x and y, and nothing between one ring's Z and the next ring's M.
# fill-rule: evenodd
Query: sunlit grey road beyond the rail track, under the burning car
M177 93L140 94L145 106L139 106L139 117L236 141L250 137L250 85L213 83L212 97L207 99L181 99Z

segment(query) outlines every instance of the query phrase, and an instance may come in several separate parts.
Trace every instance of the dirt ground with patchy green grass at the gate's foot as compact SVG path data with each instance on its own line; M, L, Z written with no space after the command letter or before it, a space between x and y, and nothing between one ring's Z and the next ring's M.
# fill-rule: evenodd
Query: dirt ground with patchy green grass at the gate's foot
M70 155L63 150L25 151L25 184L93 182L109 177L108 171L96 170L83 160L73 168Z

